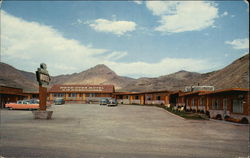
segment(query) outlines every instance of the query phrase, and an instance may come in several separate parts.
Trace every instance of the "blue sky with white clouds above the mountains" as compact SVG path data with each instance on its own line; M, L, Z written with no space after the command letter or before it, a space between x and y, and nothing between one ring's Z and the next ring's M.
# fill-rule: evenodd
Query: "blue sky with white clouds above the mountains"
M244 1L4 1L1 62L50 75L206 73L249 53Z

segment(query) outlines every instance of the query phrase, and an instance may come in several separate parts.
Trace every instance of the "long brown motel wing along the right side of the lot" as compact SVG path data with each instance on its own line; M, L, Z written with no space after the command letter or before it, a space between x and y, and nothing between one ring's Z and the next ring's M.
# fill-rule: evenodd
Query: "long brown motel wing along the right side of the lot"
M179 94L179 102L187 111L209 114L210 118L233 118L250 121L249 89L231 88L215 91L194 91ZM182 98L182 99L181 99Z

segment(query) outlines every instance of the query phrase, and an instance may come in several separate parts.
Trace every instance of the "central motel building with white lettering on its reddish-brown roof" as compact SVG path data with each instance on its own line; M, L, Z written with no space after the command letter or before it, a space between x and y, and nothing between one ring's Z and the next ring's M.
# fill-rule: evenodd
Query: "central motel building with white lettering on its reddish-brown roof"
M112 98L113 85L54 85L48 91L48 101L64 98L66 103L99 103L102 98Z

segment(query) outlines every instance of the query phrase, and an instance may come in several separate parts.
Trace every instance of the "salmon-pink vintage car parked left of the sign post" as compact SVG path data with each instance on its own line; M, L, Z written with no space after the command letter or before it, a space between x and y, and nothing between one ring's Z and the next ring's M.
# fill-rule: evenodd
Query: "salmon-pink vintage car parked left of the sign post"
M9 110L19 109L19 110L38 110L39 109L39 100L18 100L17 103L5 104L5 107Z

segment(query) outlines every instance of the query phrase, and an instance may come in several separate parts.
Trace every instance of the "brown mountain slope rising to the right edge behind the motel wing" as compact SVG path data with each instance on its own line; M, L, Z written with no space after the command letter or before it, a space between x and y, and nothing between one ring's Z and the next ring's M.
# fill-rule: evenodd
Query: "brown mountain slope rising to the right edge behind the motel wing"
M225 68L209 73L179 71L158 78L140 78L129 83L123 91L184 90L185 86L215 86L215 89L249 88L249 54Z

